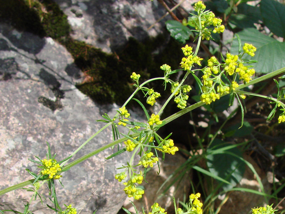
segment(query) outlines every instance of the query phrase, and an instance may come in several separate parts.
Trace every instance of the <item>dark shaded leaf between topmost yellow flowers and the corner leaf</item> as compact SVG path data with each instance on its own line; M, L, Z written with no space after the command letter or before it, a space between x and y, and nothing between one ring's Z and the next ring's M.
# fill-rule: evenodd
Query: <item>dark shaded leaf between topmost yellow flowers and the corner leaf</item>
M262 19L258 7L240 4L237 9L237 13L230 16L229 22L238 28L254 27L254 23L258 23Z

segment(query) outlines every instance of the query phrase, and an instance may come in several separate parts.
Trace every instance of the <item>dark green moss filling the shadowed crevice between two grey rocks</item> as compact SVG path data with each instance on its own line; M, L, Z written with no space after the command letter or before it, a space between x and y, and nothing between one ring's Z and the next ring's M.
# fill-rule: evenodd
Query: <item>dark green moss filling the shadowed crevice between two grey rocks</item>
M9 4L5 5L9 11ZM13 14L7 13L6 19L13 22L14 27L27 25L28 27L23 30L32 29L33 33L52 37L64 45L72 54L75 64L93 80L77 85L78 89L99 103L122 104L134 90L130 78L132 72L139 73L142 81L159 77L163 75L159 69L160 65L167 63L173 69L177 69L182 58L181 45L173 39L166 42L163 35L146 38L143 42L130 38L126 45L116 50L117 55L103 53L100 49L70 37L67 16L52 0L12 0L10 6L19 8L19 5L21 10L17 13L18 18L13 18ZM36 22L30 17L36 17ZM164 87L161 83L156 82L149 87L154 87L163 94Z

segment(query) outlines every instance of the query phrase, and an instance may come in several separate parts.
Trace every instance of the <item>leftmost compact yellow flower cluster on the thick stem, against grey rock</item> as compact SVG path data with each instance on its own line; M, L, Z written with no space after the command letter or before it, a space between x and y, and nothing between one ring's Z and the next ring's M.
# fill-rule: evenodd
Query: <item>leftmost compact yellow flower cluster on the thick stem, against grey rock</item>
M56 162L55 159L43 159L41 160L43 163L44 168L42 169L41 173L43 175L48 174L49 179L59 179L62 177L62 175L57 174L59 171L61 171L61 166Z

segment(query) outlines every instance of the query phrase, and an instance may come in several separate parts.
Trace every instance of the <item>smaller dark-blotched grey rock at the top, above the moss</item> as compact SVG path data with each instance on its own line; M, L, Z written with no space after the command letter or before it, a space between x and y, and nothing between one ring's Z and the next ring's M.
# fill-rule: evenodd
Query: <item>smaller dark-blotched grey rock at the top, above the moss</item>
M129 37L143 40L163 32L167 16L147 30L166 10L155 0L54 0L68 16L74 39L111 53Z

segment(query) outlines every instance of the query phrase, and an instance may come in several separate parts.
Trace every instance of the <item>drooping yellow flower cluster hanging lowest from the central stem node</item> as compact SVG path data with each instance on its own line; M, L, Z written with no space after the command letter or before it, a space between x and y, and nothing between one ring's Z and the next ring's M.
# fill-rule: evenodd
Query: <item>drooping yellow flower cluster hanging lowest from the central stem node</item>
M144 177L140 174L133 174L131 179L128 182L123 183L125 185L124 191L128 197L133 197L135 200L138 200L144 194L144 190L136 187L135 183L141 184Z

